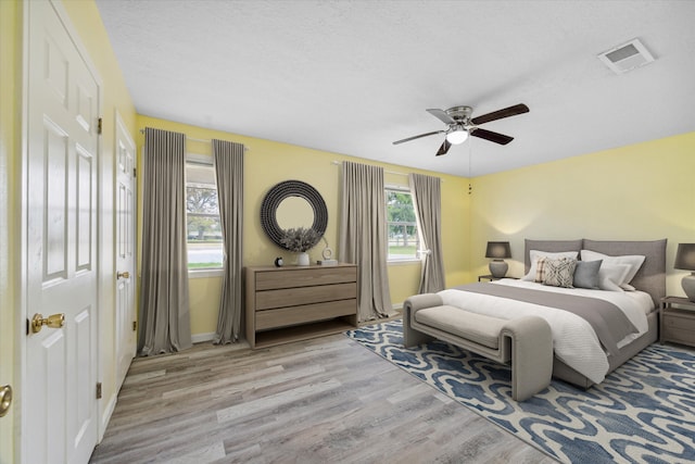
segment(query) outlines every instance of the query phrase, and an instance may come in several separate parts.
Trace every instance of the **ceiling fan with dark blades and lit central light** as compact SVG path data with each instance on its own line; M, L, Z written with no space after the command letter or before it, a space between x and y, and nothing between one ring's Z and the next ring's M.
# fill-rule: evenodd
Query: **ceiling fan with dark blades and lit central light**
M403 140L396 140L393 145L403 143L406 141L419 139L421 137L433 136L435 134L446 134L444 142L439 148L437 155L446 154L452 145L463 143L468 136L479 137L481 139L490 140L500 145L507 145L514 137L505 136L504 134L493 133L492 130L485 130L478 127L480 124L485 124L491 121L502 120L503 117L516 116L517 114L528 113L529 106L523 103L515 104L514 106L505 108L504 110L493 111L492 113L483 114L482 116L471 118L470 115L473 109L470 106L453 106L448 110L427 110L432 116L439 118L448 127L445 130L434 130L432 133L420 134L419 136L408 137Z

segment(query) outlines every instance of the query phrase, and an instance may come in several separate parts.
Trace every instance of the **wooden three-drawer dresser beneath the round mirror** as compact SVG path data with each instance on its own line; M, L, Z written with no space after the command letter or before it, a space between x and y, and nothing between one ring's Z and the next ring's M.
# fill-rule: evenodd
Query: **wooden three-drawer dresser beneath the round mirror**
M247 340L251 348L357 327L357 266L247 267Z

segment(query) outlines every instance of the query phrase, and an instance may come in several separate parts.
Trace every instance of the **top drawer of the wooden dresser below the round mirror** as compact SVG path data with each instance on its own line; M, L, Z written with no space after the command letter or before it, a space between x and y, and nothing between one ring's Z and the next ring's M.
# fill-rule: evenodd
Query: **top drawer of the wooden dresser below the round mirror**
M256 291L292 288L313 287L329 284L342 284L357 281L357 268L350 266L320 267L307 269L290 269L285 272L256 273Z

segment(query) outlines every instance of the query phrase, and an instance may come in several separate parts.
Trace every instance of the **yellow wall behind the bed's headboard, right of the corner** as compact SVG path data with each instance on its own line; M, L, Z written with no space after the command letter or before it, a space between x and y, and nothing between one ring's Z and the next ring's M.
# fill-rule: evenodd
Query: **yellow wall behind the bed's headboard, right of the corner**
M523 239L668 238L668 292L684 296L675 248L695 241L695 133L473 179L471 271L488 240L509 240L508 275L523 274Z

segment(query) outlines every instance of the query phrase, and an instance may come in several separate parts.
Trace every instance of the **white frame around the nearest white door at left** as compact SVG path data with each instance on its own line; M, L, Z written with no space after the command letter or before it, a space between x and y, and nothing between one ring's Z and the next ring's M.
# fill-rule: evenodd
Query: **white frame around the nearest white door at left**
M77 33L77 29L73 25L70 18L70 15L67 14L67 11L63 7L62 2L60 0L42 0L42 1L47 1L48 3L50 3L59 21L62 23L67 35L70 36L70 39L73 42L79 58L84 61L88 72L91 74L92 78L97 83L97 86L99 87L99 91L97 96L97 99L98 99L97 114L101 115L103 112L103 104L104 104L103 103L104 102L104 90L103 90L104 84L99 72L97 71L97 66L92 62L89 53L87 52L86 47L81 42L79 34ZM15 369L15 376L14 376L15 386L13 386L15 391L14 404L13 404L14 430L15 430L14 459L15 459L15 462L22 463L22 464L31 464L26 462L25 449L27 446L35 444L29 442L30 437L28 434L26 434L26 430L25 430L26 425L24 421L26 403L30 401L30 399L25 398L27 371L29 368L29 366L27 365L27 340L28 340L27 330L28 330L28 324L29 324L29 315L27 313L28 311L28 308L27 308L27 291L28 291L27 249L28 247L26 241L26 234L27 234L27 225L28 225L28 209L27 209L26 199L27 199L27 192L29 189L28 181L27 181L28 142L29 142L29 137L31 136L28 133L29 130L29 114L28 114L29 113L29 104L28 104L29 102L28 75L29 74L28 73L29 73L29 37L30 37L29 14L31 10L30 4L31 4L31 0L24 0L21 7L22 8L22 28L23 28L22 30L22 74L21 74L22 76L22 97L21 97L22 116L21 116L21 129L20 129L21 161L18 163L20 180L16 185L17 188L15 190L17 193L15 202L16 202L17 209L21 212L20 214L21 221L20 221L20 225L16 226L17 235L14 239L15 250L20 250L18 251L20 255L16 259L18 273L17 273L17 279L15 284L16 319L14 324L15 366L18 366L18 368ZM96 260L96 276L97 276L96 301L99 304L103 302L102 296L104 294L103 284L101 278L103 275L103 269L101 267L103 250L100 247L100 244L102 243L101 238L103 237L103 230L102 230L103 221L101 217L102 202L103 202L103 193L101 191L101 186L103 181L103 178L102 178L103 176L103 171L102 171L103 137L98 137L96 158L97 158L96 170L97 170L98 185L96 187L97 199L96 199L96 205L94 205L97 210L96 211L97 249L94 250L94 260ZM103 347L99 342L99 339L100 339L99 334L101 334L102 325L103 325L103 317L101 316L101 312L102 311L96 311L94 313L94 316L97 318L96 330L98 335L97 346L94 347L94 350L96 350L94 355L97 358L96 372L98 376L100 376L100 373L101 373L101 365L102 365L101 354L103 350ZM100 403L98 400L94 399L94 403L97 409L97 423L94 424L94 426L97 427L97 437L99 440L101 437L103 437L103 430L101 429L102 428L101 427L102 410L100 407ZM16 432L16 431L20 431L20 432Z

